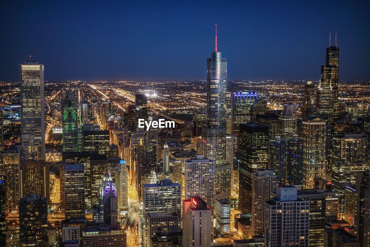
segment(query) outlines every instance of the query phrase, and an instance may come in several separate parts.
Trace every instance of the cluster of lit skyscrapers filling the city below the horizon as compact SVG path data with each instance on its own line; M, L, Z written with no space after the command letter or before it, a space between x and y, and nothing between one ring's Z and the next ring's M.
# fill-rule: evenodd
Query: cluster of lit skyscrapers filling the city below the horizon
M69 86L60 99L63 150L50 163L44 67L21 64L20 144L0 153L0 246L10 214L21 246L126 246L136 239L125 228L133 214L135 244L145 247L210 247L232 238L232 222L235 247L370 246L369 110L341 107L337 44L302 103L268 110L258 92L228 93L226 84L216 31L207 107L189 125L140 128L139 119L159 117L145 94L118 110ZM51 203L55 181L60 201ZM51 226L55 206L63 220Z

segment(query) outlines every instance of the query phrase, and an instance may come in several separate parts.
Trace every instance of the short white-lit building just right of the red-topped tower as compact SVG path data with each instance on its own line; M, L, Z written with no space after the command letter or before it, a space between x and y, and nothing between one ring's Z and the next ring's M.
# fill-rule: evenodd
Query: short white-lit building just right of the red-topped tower
M230 201L227 198L215 200L215 228L222 234L230 233Z

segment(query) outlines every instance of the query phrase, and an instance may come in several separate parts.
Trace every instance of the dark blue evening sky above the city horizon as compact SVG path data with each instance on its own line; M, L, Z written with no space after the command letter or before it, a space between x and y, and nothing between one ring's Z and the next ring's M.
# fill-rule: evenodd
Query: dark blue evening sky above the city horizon
M30 54L45 80L206 79L215 23L229 80L319 80L329 28L339 79L370 80L369 1L55 2L2 1L0 80Z

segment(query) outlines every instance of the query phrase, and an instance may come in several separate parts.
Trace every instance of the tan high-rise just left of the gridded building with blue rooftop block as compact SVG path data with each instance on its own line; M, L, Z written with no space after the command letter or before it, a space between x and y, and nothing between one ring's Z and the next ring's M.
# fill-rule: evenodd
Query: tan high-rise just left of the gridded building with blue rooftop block
M252 235L265 234L265 202L276 190L277 176L273 170L259 169L252 177Z

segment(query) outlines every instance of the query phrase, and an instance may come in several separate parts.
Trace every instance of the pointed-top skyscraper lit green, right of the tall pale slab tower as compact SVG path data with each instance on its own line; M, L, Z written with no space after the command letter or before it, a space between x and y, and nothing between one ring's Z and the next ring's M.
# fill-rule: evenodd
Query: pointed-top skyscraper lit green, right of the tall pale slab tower
M78 128L80 128L78 118L78 101L69 89L62 101L63 152L82 151L82 147L78 144L78 138L81 138L78 135Z

